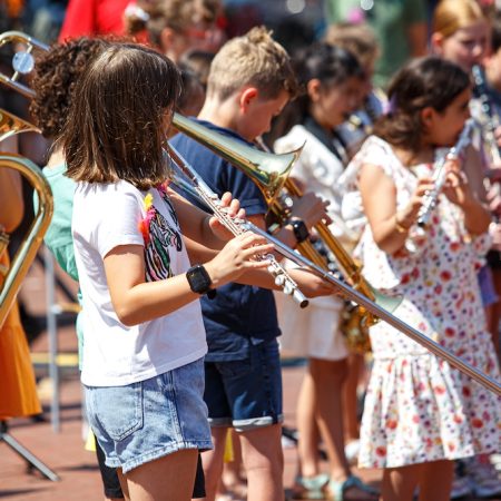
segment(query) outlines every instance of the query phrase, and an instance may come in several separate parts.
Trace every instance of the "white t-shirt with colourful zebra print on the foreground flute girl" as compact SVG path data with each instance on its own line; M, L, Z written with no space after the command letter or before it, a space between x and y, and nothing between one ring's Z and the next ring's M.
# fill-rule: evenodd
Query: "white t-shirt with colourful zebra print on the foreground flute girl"
M189 259L174 207L153 188L146 279L185 273ZM119 245L143 245L139 223L145 195L127 181L79 183L75 191L72 235L84 297L84 366L88 386L121 386L194 362L207 352L198 301L139 325L127 327L111 304L104 258Z

